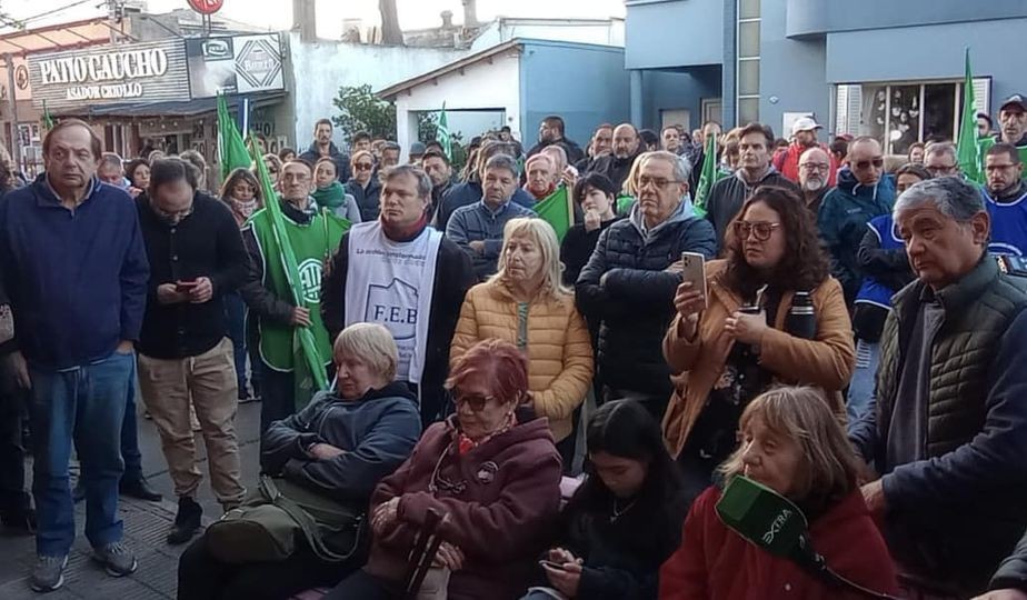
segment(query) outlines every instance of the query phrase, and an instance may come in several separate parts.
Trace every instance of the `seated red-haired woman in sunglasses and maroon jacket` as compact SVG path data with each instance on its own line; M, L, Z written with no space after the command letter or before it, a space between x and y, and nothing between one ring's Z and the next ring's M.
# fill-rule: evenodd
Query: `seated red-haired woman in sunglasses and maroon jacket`
M426 581L438 598L519 598L560 503L560 457L545 419L522 420L528 361L486 340L465 352L447 386L456 413L432 424L371 497L367 566L325 600L399 597L429 509L446 516ZM426 593L421 588L421 593Z

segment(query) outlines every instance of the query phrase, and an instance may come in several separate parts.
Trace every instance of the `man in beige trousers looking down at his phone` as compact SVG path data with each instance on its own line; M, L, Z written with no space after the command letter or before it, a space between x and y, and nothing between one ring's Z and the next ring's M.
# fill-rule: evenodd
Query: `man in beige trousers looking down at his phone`
M190 402L218 502L228 510L246 494L235 424L238 378L223 298L245 280L249 258L231 210L197 190L198 174L183 160L157 160L148 191L136 200L151 273L139 334L139 389L178 497L168 534L172 544L189 541L201 526L196 497L203 477Z

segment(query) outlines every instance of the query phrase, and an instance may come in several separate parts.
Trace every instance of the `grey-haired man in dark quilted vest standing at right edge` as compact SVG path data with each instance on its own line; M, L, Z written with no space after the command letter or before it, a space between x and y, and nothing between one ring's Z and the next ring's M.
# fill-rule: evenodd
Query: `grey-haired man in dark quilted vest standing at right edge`
M1027 279L987 253L990 218L960 178L917 183L894 214L919 280L894 298L876 407L850 437L883 476L863 492L908 591L966 598L1027 527Z

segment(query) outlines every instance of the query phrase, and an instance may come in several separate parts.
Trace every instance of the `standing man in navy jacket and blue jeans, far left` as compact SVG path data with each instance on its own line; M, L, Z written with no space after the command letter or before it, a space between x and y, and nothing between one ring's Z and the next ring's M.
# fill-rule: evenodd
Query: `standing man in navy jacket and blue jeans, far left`
M100 156L92 129L64 119L43 140L46 173L0 206L0 256L18 316L14 364L32 389L37 591L63 583L74 542L72 441L82 461L86 537L96 558L113 577L137 567L121 542L118 482L149 264L132 200L96 177Z

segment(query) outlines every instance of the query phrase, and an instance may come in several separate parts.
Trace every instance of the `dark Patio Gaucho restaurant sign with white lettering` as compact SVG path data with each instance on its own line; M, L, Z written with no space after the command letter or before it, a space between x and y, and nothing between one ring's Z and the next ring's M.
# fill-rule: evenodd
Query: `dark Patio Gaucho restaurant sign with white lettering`
M32 102L54 109L190 98L182 40L30 57L29 79Z

